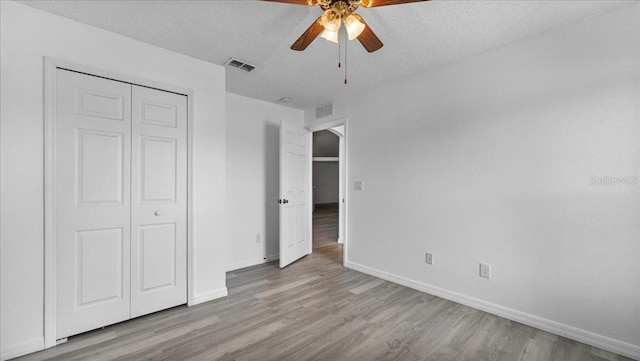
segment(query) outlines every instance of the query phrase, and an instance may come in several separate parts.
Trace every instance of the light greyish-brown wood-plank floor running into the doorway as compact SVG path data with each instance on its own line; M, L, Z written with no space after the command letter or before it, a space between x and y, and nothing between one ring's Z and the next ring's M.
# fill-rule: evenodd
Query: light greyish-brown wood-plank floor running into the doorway
M629 360L345 269L330 213L316 214L313 254L283 270L272 262L229 272L226 298L88 332L22 359Z

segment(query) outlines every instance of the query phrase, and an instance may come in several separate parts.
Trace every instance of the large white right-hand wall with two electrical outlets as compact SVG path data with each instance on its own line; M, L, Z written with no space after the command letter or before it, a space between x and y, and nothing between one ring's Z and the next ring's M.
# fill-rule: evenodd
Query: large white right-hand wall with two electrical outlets
M348 265L640 358L640 187L591 185L640 178L638 19L630 3L334 104L365 182Z

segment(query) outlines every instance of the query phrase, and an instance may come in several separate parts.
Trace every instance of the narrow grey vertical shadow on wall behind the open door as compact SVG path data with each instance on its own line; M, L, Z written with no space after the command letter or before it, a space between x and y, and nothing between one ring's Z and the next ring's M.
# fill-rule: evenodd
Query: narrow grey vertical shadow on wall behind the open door
M277 258L279 252L280 213L278 193L280 192L280 125L264 123L264 176L265 176L265 235L264 247L267 260Z

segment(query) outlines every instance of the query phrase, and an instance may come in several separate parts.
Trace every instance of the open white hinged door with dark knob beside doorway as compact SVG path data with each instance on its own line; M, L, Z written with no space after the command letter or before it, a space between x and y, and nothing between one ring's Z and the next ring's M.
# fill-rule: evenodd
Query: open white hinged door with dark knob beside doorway
M280 123L280 268L311 251L309 219L309 135Z

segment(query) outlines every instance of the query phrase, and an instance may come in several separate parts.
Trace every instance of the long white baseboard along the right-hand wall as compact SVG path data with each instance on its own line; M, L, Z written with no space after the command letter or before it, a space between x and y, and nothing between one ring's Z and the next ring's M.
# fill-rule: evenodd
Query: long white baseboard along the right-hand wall
M353 270L366 273L371 276L397 283L418 291L426 292L434 296L454 301L465 306L469 306L481 311L485 311L506 319L520 322L522 324L535 327L553 334L570 338L572 340L595 346L603 350L611 351L635 360L640 360L640 346L632 345L623 341L598 335L593 332L582 330L573 326L548 320L542 317L503 307L478 298L470 297L461 293L452 292L440 287L435 287L426 283L415 281L406 277L394 275L385 271L380 271L365 265L347 261L345 266Z

